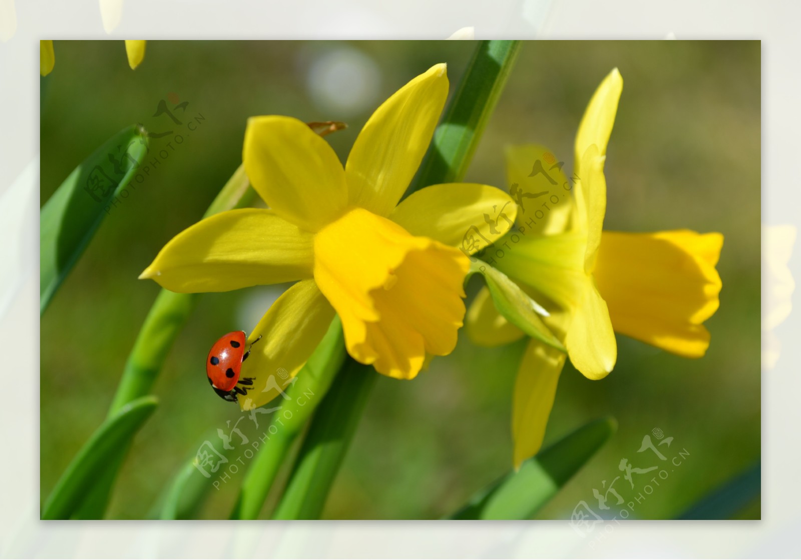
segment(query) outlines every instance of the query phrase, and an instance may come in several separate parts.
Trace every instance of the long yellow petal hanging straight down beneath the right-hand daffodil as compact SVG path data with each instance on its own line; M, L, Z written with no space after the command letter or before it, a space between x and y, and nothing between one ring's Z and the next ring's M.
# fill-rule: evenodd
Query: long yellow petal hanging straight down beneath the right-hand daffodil
M537 454L542 446L564 365L565 354L529 340L514 382L512 439L515 469Z

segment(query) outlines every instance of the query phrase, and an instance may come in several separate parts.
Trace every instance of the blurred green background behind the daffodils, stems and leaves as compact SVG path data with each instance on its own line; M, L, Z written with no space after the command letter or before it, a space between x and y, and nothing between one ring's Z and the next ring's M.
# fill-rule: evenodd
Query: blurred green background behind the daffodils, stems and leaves
M159 291L137 276L163 244L199 220L239 165L248 117L343 120L348 130L328 140L344 161L372 110L429 66L448 63L453 93L473 48L461 41L152 41L131 71L122 41L55 42L55 69L42 80L42 203L123 127L174 129L166 115L151 116L160 100L170 108L188 103L178 119L205 120L111 210L42 316L42 499L103 421ZM546 445L606 414L619 429L539 518L569 518L581 500L592 506L593 489L621 474L621 458L638 466L642 437L654 428L674 437L671 449L690 455L638 504L638 518L672 518L759 460L760 56L757 41L522 46L467 180L506 188L507 143L542 143L570 162L584 107L617 66L625 85L606 159L605 228L690 228L726 237L706 357L689 361L618 336L618 365L606 379L589 381L566 366ZM469 297L479 282L470 284ZM208 348L224 332L250 331L283 288L201 298L155 385L161 404L135 440L109 517L147 516L204 437L239 417L208 388ZM416 380L381 377L325 517L437 518L507 472L522 348L476 348L461 333L456 351ZM246 422L239 427L254 437ZM227 518L243 473L211 490L203 518ZM615 487L626 489L622 484ZM759 503L741 516L759 518Z

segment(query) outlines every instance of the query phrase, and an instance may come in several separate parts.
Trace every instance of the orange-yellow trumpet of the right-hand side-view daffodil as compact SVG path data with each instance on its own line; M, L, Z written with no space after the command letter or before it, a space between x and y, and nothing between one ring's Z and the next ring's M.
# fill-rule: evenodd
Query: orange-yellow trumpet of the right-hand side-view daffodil
M603 232L594 277L614 330L683 357L702 357L718 309L719 233Z

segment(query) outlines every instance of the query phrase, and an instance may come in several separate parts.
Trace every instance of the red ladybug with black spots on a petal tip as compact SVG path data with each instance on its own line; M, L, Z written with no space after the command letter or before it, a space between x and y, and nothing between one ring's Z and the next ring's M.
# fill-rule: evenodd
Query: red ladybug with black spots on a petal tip
M261 336L253 340L256 344ZM236 402L236 395L247 395L252 389L252 377L239 377L242 362L250 356L250 348L245 352L247 338L243 331L228 332L217 340L206 359L206 375L211 389L226 401Z

